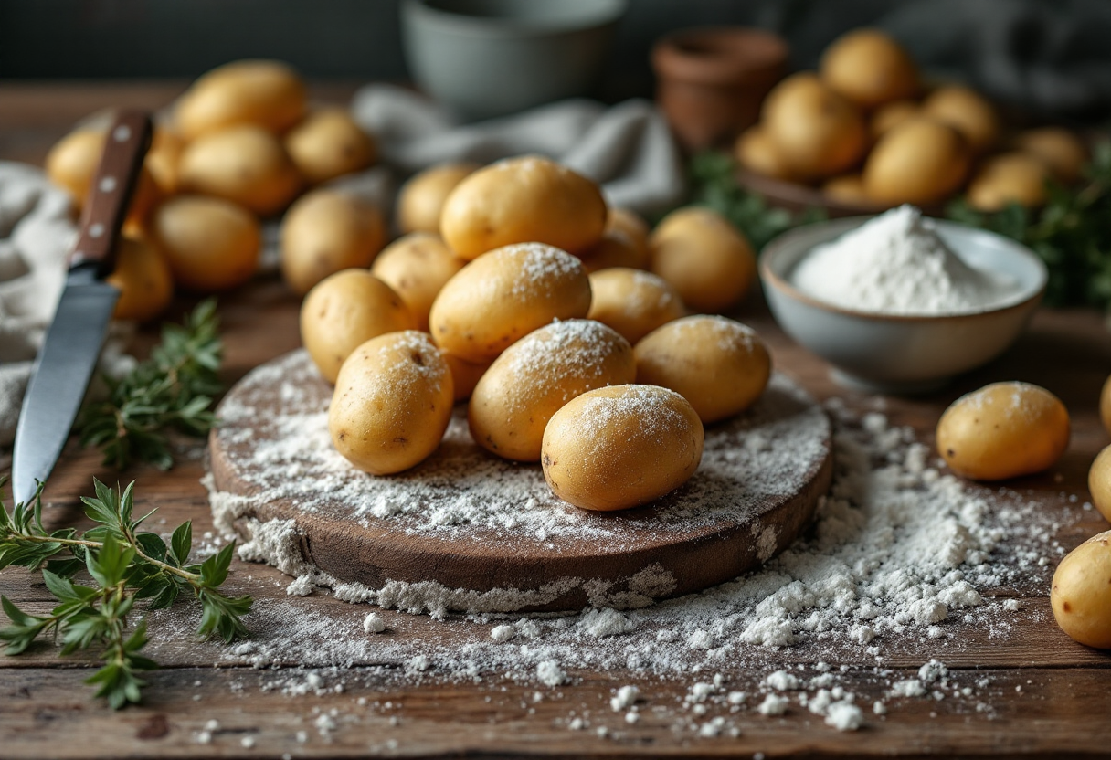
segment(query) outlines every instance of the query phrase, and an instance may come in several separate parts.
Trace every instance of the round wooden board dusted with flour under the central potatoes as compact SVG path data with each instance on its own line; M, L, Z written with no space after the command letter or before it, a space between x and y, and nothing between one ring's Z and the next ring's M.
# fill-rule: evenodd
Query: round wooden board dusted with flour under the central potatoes
M832 477L829 419L781 374L752 409L707 429L687 484L609 513L558 500L539 464L474 446L466 404L417 468L360 472L331 447L330 399L303 351L228 393L210 456L216 490L240 497L237 531L292 519L304 559L333 578L463 589L463 611L494 596L501 611L643 607L721 583L787 548Z

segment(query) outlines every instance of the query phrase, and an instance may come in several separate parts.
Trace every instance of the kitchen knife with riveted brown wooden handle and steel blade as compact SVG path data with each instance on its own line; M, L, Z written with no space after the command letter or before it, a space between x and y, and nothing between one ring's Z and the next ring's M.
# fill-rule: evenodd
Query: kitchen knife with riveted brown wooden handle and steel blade
M28 503L61 456L97 367L120 291L104 281L150 146L150 117L120 111L89 186L66 287L34 362L12 451L12 498Z

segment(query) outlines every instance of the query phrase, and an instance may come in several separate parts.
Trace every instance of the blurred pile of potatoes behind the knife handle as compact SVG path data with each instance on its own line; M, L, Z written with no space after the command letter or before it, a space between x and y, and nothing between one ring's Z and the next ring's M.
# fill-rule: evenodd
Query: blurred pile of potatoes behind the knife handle
M79 128L47 157L48 176L79 210L106 129ZM373 138L347 110L310 109L304 83L288 66L238 61L213 69L156 126L110 278L121 290L116 317L153 319L174 286L203 293L247 281L258 268L260 218L281 213L307 190L294 207L293 238L319 241L314 221L320 219L334 222L326 229L344 239L348 230L336 228L350 226L361 247L341 263L369 264L386 241L379 210L312 188L362 170L374 158ZM307 263L291 282L297 287L313 278Z

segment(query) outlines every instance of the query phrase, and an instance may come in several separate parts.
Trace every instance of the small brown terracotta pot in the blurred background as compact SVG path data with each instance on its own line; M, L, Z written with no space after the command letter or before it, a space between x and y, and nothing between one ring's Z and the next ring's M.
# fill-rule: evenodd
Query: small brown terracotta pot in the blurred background
M720 144L757 122L787 58L787 42L759 29L685 29L652 48L655 100L683 147Z

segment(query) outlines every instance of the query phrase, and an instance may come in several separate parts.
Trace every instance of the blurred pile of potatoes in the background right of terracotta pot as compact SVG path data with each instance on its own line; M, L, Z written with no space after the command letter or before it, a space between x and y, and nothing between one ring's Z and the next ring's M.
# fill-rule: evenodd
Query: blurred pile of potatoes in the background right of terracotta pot
M780 82L734 152L750 171L834 201L933 206L963 189L981 211L1039 206L1048 178L1074 182L1088 158L1064 129L1004 134L983 97L925 87L907 51L873 29L835 40L819 71Z

